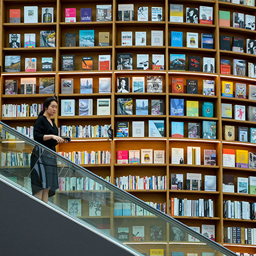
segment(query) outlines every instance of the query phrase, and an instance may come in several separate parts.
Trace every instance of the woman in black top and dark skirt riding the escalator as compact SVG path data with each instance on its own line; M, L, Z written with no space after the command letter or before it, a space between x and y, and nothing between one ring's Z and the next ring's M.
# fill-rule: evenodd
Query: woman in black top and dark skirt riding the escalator
M57 126L51 119L56 111L56 97L47 98L34 124L35 141L53 151L56 151L58 143L66 142L58 136ZM31 187L33 195L46 203L48 197L55 195L56 189L59 188L56 157L38 146L35 146L31 155Z

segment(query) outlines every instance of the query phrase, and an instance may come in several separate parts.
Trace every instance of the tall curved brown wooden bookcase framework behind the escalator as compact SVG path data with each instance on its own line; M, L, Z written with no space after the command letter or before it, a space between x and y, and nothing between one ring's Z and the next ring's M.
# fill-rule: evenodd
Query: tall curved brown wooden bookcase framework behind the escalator
M222 118L221 104L232 104L233 117L234 117L234 105L245 105L246 113L249 106L255 106L255 101L234 98L235 92L233 91L233 97L222 97L222 81L241 82L246 84L246 88L250 84L256 85L256 80L252 77L242 77L234 75L221 74L220 60L227 59L231 63L233 59L242 59L248 62L254 62L254 55L241 52L224 51L220 49L219 37L220 35L227 36L241 36L243 37L243 48L246 49L246 39L256 39L254 31L245 30L243 28L223 27L218 23L219 10L230 11L230 24L232 24L232 13L242 12L245 14L255 15L255 7L236 5L229 2L221 1L183 1L183 23L170 22L170 4L180 4L180 1L162 0L159 2L149 3L137 3L131 1L129 3L134 5L134 20L133 21L121 21L118 20L118 5L119 1L104 1L104 5L112 5L112 20L106 22L97 22L97 3L94 1L84 2L75 1L69 3L65 0L46 0L35 3L34 1L22 1L13 2L11 0L1 0L1 65L5 67L5 56L19 55L20 56L20 72L5 72L2 68L1 76L1 110L3 110L4 104L42 104L44 99L49 94L39 94L39 81L42 77L52 77L55 80L55 92L59 99L59 112L55 116L55 122L58 127L61 126L104 126L111 125L113 129L113 140L108 136L100 138L72 138L70 143L60 144L57 147L58 152L73 152L73 151L109 151L111 152L110 163L96 163L96 164L81 164L93 171L95 174L107 179L109 177L113 184L117 184L118 179L123 176L139 176L139 177L152 177L160 176L166 179L166 185L162 189L127 189L130 193L138 196L144 201L151 201L158 204L166 203L166 213L171 214L171 200L188 199L199 200L211 199L213 201L213 217L188 217L188 216L173 216L184 222L188 226L200 226L203 224L215 225L215 238L218 243L229 247L233 251L256 253L256 248L253 245L237 246L236 243L226 243L224 241L223 228L225 227L240 227L256 228L255 220L241 220L233 218L224 218L222 204L224 200L232 201L249 201L254 202L255 196L243 195L236 192L237 177L249 177L255 176L254 169L247 168L230 168L222 167L222 149L233 148L243 149L250 152L254 152L254 143L242 143L236 141L225 141L224 126L233 125L237 129L240 126L243 127L256 127L255 122L251 121L237 121L234 118ZM24 6L38 6L38 19L39 23L24 23ZM148 22L139 22L137 20L138 7L148 6ZM151 20L151 7L162 7L162 21L152 22ZM185 22L186 8L199 8L199 6L213 7L213 24L195 24ZM42 7L53 7L53 22L41 23ZM76 8L76 22L65 22L65 8ZM91 8L92 9L92 22L81 22L80 9ZM21 23L10 23L10 9L20 9L20 21ZM40 46L40 31L51 30L56 31L56 47L39 47ZM79 31L80 30L94 30L94 47L79 47ZM152 31L163 31L163 45L151 46L151 33ZM172 31L183 32L183 46L176 47L171 46L171 33ZM99 46L99 32L109 32L109 46ZM122 32L132 32L133 42L131 46L122 46ZM146 32L146 46L135 46L135 32ZM199 34L199 48L187 47L187 32L196 32ZM20 34L20 48L9 47L9 34ZM36 34L36 47L24 48L24 34L32 33ZM65 34L76 33L76 46L66 46ZM201 34L213 34L213 49L205 49L201 47ZM120 53L132 53L133 64L131 70L118 70L118 55ZM137 55L148 54L148 70L137 70ZM185 71L175 71L170 69L170 63L172 61L171 55L185 54ZM61 70L61 56L62 55L75 55L75 70L63 71ZM100 71L98 66L99 55L110 55L110 69ZM164 55L164 69L153 70L152 55ZM201 68L198 72L189 71L189 56L199 56L201 58ZM25 58L36 57L37 69L36 72L25 72ZM43 72L42 57L52 57L52 71ZM82 57L93 57L93 70L82 70ZM203 67L203 57L214 58L215 70L214 73L206 73ZM231 65L231 74L233 74L233 67ZM162 92L148 93L148 77L158 76L162 79ZM20 79L22 78L36 78L36 94L20 94ZM119 93L118 82L122 77L129 78L129 92ZM133 79L136 77L144 77L144 92L133 92ZM108 78L111 79L111 92L100 93L99 92L99 79ZM16 79L18 81L18 94L7 95L5 94L6 80ZM73 79L73 93L61 92L61 80ZM92 93L80 93L80 79L92 79ZM184 93L176 93L172 88L173 79L183 79ZM197 80L197 94L187 93L188 80ZM204 81L214 81L214 96L207 96L203 94ZM235 88L235 87L234 87ZM233 88L233 90L235 90ZM118 113L118 99L131 99L133 100L133 113L132 114L119 114ZM61 100L72 99L75 100L75 115L74 116L62 116L61 115ZM93 100L93 113L88 116L79 115L79 100L92 99ZM110 114L109 115L97 115L97 100L98 99L110 99ZM171 101L172 100L184 100L184 115L172 115L171 114ZM137 100L148 100L148 115L136 114ZM163 101L163 113L152 115L152 100ZM188 101L197 101L199 105L199 116L188 116L186 109ZM203 102L211 102L213 104L213 117L204 117L202 113ZM3 117L1 115L1 121L6 122L12 127L26 126L30 127L34 124L36 115L32 117ZM164 121L163 137L154 138L149 137L149 121ZM133 122L144 122L144 138L133 137ZM216 139L204 137L203 134L203 122L210 121L215 122L214 129L216 130ZM129 123L129 137L122 138L117 137L117 123L128 122ZM184 123L184 138L172 137L172 122ZM200 138L189 138L188 136L188 123L200 124ZM200 147L201 162L198 165L191 165L187 162L188 147ZM172 148L183 148L184 158L183 164L172 163ZM118 151L129 151L152 149L164 151L164 163L155 164L119 164L118 163ZM204 150L216 151L216 166L208 166L204 164ZM142 160L142 159L140 159ZM236 170L236 172L234 172ZM185 189L186 175L189 173L201 174L201 191L188 191ZM173 190L171 189L171 174L183 174L183 189ZM222 192L222 176L224 174L234 175L235 193ZM205 175L213 175L217 178L216 192L205 191L204 181ZM59 192L61 193L61 191ZM69 197L67 197L68 199ZM70 197L71 198L71 197ZM58 197L56 197L58 200ZM106 213L108 216L109 213ZM107 218L106 218L107 219ZM108 220L106 220L108 222ZM112 224L111 224L112 223ZM111 232L116 232L116 225L110 220ZM133 224L130 224L131 228ZM164 239L168 240L170 234L168 228L163 230ZM149 240L149 238L148 238Z

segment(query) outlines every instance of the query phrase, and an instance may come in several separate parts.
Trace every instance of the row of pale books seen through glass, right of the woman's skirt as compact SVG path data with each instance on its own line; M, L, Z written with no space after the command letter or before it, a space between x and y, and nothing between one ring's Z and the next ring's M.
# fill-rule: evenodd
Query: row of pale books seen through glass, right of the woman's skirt
M102 178L102 177L101 177ZM110 182L110 177L106 176L106 181ZM59 177L60 191L90 191L90 190L108 190L104 185L89 177Z

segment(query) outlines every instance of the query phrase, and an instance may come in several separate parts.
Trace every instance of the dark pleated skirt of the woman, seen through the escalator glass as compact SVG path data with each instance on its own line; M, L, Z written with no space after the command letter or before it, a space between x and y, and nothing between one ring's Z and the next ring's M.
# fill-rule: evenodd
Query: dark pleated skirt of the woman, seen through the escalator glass
M30 171L32 194L50 188L49 197L54 196L59 188L56 156L35 146L31 154Z

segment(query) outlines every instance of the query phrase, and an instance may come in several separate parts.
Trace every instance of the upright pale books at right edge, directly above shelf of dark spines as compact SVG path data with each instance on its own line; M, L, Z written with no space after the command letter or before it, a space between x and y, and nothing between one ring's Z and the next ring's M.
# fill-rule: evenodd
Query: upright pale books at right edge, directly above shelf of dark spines
M256 203L225 200L223 201L223 217L255 220Z

